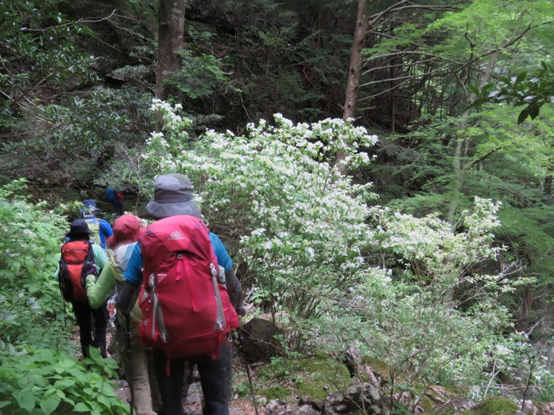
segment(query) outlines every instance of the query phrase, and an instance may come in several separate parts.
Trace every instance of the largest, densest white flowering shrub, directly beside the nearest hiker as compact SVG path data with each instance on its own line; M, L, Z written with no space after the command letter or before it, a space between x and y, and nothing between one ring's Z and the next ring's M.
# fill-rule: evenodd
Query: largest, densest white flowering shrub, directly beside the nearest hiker
M181 153L173 147L171 157L160 151L162 139L168 142L167 134L152 134L146 157L164 172L190 177L213 230L240 241L232 251L246 265L243 282L267 288L274 313L286 303L295 315L310 317L319 295L357 276L373 194L341 175L334 160L343 152L340 163L368 163L360 148L373 146L375 136L342 120L294 125L277 114L275 126L249 124L244 136L208 131L190 150L182 136ZM175 134L170 140L179 142Z

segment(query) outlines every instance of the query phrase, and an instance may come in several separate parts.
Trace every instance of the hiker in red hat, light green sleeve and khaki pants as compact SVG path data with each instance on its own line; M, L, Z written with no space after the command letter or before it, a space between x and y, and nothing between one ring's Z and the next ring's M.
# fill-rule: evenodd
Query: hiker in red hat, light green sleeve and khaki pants
M109 302L117 298L123 282L123 275L129 263L137 239L146 232L141 227L139 218L132 214L119 216L114 221L114 234L106 241L113 251L109 263L102 270L98 281L92 275L86 279L86 290L91 307L105 304L112 293ZM138 306L126 317L116 312L116 347L123 362L127 382L132 387L132 407L136 415L156 415L162 409L156 377L154 375L154 360L152 348L143 347L139 342L139 324L142 322L142 312ZM131 338L127 338L125 319L130 321ZM129 360L129 342L131 358Z

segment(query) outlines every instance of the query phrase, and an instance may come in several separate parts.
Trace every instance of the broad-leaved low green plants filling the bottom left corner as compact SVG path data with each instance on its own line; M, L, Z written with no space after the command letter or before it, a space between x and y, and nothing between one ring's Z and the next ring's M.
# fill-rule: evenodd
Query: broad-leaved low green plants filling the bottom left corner
M25 356L0 351L0 408L3 414L122 414L128 410L116 395L115 360L91 348L80 362L64 351L29 349Z

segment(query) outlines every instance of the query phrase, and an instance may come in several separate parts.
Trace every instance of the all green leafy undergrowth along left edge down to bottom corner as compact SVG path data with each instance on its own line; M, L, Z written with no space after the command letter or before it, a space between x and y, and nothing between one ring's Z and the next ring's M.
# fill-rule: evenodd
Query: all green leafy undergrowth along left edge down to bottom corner
M67 221L45 203L28 203L24 180L0 187L0 412L120 414L116 362L78 362L62 326L53 273Z

